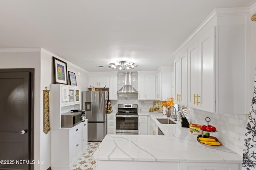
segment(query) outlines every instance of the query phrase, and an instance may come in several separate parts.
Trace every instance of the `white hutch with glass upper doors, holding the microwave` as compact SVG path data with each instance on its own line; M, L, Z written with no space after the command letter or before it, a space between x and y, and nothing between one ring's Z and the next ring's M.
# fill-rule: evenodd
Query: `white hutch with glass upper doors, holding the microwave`
M82 123L74 127L61 127L61 114L70 112L72 109L81 109L80 87L51 84L50 94L51 168L52 170L60 168L69 170L70 166L86 148L82 139L87 138L87 133L83 131ZM72 98L69 98L70 96ZM68 99L68 102L63 102L63 99Z

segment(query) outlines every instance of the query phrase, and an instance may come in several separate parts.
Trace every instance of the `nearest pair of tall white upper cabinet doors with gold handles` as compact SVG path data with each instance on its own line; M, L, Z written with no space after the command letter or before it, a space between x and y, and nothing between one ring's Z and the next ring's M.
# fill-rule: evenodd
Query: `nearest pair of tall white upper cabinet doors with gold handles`
M215 27L204 31L188 49L188 106L214 112Z

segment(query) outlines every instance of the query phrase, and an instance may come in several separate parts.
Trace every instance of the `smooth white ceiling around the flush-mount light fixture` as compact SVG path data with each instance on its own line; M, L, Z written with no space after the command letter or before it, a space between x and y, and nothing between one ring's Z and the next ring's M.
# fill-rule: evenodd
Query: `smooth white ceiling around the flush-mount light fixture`
M87 71L173 64L172 53L215 8L256 0L0 0L0 49L41 47ZM104 65L106 68L98 68Z

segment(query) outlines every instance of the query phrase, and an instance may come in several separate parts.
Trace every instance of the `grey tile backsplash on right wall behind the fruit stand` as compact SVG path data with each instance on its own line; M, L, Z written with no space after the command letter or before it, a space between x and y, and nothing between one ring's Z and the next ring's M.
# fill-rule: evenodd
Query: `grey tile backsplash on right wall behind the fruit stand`
M217 137L223 146L242 156L247 115L215 114L188 107L188 119L190 123L207 125L206 117L210 117L209 125L215 126L218 131L216 133L210 133L210 135Z

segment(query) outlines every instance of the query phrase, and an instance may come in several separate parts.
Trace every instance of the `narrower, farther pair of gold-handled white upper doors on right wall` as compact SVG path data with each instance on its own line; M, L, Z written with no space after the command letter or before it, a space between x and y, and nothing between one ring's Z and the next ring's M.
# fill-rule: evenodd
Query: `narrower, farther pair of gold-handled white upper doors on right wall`
M188 58L187 50L182 51L174 60L174 103L188 104Z

